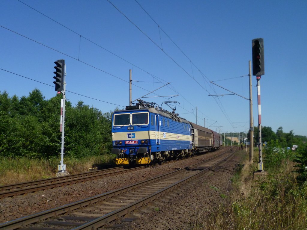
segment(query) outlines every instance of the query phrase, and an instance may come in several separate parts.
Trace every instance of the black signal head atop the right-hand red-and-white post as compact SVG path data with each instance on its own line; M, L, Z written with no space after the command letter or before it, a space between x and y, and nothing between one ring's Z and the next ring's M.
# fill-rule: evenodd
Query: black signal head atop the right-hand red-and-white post
M263 38L252 40L253 75L264 75L264 46Z

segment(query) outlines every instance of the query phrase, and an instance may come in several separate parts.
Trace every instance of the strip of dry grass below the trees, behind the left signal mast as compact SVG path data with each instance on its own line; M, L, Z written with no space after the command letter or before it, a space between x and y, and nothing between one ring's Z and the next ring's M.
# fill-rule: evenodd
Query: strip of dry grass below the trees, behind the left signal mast
M76 174L87 172L92 167L101 169L104 165L111 164L114 158L112 154L90 156L84 159L65 157L64 164L69 174ZM60 164L60 159L57 158L2 158L0 159L0 185L54 177L58 164Z

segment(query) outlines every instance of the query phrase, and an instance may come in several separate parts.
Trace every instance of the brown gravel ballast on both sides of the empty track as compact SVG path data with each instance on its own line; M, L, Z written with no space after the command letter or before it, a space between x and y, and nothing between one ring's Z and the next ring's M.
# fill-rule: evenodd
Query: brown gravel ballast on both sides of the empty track
M210 152L134 172L4 198L0 200L0 223L153 178L198 163L200 160L212 158L219 153L220 151ZM117 220L115 223L118 223L121 229L191 229L203 211L223 201L223 197L229 191L235 165L240 163L239 159L242 159L243 154L245 152L239 151L214 171L131 213L138 219L130 222Z

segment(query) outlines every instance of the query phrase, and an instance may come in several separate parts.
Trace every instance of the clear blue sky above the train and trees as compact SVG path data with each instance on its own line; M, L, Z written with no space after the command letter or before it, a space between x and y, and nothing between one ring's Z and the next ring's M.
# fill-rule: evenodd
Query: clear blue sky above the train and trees
M65 59L66 98L110 112L129 105L132 69L133 100L170 82L142 99L168 110L162 103L177 101L181 117L196 123L197 111L197 124L218 132L247 132L249 101L209 96L230 94L210 81L249 98L251 40L263 38L262 126L307 135L305 0L2 0L0 6L0 91L10 96L34 88L45 99L55 96L54 61ZM252 76L254 126L256 84Z

